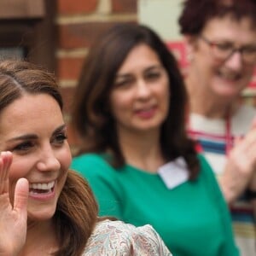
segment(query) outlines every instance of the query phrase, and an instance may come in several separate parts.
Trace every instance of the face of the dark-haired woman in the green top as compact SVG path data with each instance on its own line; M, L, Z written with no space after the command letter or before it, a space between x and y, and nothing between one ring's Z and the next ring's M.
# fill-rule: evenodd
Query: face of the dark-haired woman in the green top
M168 113L169 95L169 78L158 56L147 45L138 45L119 69L109 99L117 129L159 129ZM148 101L151 96L154 99ZM141 101L134 102L136 97Z

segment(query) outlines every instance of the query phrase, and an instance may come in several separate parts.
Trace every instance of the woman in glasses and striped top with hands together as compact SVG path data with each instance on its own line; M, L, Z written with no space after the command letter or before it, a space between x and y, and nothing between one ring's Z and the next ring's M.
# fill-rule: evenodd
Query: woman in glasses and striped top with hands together
M253 0L187 0L179 18L189 53L189 135L216 172L241 254L250 256L255 255L255 109L241 102L241 91L256 63L255 14Z

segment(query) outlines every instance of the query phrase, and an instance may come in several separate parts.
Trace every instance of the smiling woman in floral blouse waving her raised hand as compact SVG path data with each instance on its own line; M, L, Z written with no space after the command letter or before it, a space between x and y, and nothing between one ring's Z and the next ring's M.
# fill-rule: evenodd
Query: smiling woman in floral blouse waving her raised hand
M61 108L52 74L0 63L0 254L172 255L149 225L97 218L88 183L69 170Z

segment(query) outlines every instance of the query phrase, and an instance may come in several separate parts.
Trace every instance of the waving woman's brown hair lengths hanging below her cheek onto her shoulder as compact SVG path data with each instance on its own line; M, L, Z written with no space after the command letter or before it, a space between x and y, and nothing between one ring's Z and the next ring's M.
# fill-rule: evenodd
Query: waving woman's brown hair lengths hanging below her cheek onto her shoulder
M81 255L97 221L98 207L89 184L78 172L67 173L67 181L55 212L55 226L60 241L56 254Z

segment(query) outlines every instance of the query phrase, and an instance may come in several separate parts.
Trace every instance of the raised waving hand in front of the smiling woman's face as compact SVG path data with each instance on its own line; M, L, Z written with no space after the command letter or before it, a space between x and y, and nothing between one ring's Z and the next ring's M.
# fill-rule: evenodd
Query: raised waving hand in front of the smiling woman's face
M15 187L14 201L9 193L9 168L12 153L0 154L0 255L17 255L26 241L28 182L20 178Z

